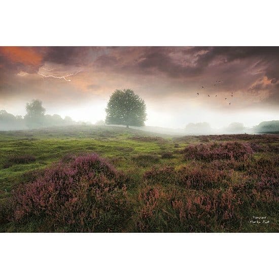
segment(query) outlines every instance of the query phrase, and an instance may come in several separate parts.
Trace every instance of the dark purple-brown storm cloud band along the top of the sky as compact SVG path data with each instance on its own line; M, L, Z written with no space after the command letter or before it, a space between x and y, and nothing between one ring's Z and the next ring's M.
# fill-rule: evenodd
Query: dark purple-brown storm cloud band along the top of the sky
M278 47L38 47L21 48L33 58L30 63L20 58L24 52L1 52L0 63L16 71L33 73L44 63L86 66L95 62L98 68L122 72L165 73L170 78L197 76L211 63L227 64L235 60L254 59L266 66L266 75L275 83L279 67ZM15 59L11 56L16 54ZM18 61L17 61L18 60ZM32 62L33 61L33 62ZM212 68L212 67L211 67ZM216 69L218 67L215 67Z

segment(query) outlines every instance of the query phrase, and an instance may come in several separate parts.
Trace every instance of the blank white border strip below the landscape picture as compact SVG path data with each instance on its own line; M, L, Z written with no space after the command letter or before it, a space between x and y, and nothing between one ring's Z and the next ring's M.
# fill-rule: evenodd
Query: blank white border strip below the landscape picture
M1 275L5 279L275 278L277 236L4 234Z

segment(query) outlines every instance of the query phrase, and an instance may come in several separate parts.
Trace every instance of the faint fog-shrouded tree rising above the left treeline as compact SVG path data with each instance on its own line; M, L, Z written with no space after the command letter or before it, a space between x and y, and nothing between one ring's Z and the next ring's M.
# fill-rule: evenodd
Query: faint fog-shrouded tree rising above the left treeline
M38 128L44 125L46 109L42 106L42 101L32 100L26 103L26 115L24 117L29 128Z

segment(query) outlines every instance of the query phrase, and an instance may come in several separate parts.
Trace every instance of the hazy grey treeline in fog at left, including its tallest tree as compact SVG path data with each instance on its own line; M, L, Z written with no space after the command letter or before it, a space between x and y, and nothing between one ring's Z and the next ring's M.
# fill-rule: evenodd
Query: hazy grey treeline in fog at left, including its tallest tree
M26 104L26 115L14 116L5 110L0 111L0 130L24 130L52 126L66 126L80 124L66 116L64 119L58 115L45 114L42 101L33 100Z

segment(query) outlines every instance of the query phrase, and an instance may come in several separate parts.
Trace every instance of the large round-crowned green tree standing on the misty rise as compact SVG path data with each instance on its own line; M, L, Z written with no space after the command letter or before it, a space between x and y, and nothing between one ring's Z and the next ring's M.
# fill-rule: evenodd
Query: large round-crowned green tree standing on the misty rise
M106 109L106 124L144 126L145 101L131 89L115 90Z

